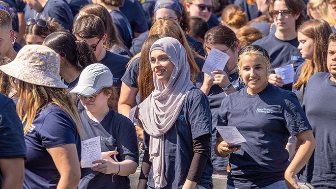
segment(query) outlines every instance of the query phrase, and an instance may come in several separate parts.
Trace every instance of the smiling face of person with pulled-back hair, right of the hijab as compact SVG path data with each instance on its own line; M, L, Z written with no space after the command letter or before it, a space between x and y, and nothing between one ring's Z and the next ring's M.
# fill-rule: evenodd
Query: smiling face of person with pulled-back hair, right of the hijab
M248 86L248 94L257 94L267 87L268 70L259 55L245 55L240 58L239 74Z

